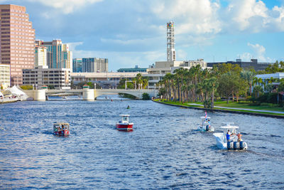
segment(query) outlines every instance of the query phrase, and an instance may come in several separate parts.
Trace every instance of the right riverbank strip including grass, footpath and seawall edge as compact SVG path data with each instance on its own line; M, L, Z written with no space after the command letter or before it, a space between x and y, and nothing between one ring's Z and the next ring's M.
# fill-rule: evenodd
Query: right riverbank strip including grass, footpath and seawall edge
M172 105L177 107L185 107L197 110L211 110L211 111L219 111L219 112L233 112L239 114L248 114L248 115L259 115L265 117L278 117L284 118L284 110L281 107L271 107L270 105L259 105L252 106L249 105L249 102L231 102L226 104L226 101L214 102L214 108L204 108L203 102L175 102L175 101L167 101L161 99L155 99L154 102L158 102L165 105ZM225 105L225 106L224 106ZM237 109L237 110L236 110ZM244 110L250 109L250 110ZM283 113L277 113L283 112Z

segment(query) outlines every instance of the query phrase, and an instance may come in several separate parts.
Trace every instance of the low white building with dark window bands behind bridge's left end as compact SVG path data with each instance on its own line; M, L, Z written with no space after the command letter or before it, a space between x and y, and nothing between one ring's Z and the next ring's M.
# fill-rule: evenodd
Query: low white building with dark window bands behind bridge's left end
M33 69L23 70L23 85L35 85L42 88L43 85L53 86L55 89L70 89L69 68L48 68L38 66Z

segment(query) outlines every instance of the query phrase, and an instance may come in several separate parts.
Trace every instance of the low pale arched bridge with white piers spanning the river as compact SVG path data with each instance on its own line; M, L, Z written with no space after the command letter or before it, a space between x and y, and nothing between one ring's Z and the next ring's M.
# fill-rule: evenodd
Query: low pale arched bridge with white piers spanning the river
M100 95L112 95L118 93L125 93L137 97L137 99L142 99L143 93L148 93L150 97L156 97L158 90L153 89L80 89L80 90L23 90L28 97L33 98L33 100L47 100L48 95L56 94L74 94L82 95L83 100L95 100Z

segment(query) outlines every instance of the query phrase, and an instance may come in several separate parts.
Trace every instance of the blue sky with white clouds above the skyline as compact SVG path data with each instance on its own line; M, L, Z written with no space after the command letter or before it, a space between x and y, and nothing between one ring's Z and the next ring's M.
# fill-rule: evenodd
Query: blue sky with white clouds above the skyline
M109 71L166 60L284 60L284 0L0 0L26 6L35 38L69 43L73 58L108 58Z

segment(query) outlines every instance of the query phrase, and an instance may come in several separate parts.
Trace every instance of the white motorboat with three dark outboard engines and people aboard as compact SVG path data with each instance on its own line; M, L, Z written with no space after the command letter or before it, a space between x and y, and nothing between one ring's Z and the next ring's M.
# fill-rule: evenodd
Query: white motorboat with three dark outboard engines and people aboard
M217 147L219 149L248 149L246 142L241 140L241 133L236 131L236 129L239 129L238 126L226 123L225 126L220 128L224 130L224 132L216 132L213 134L216 138Z

